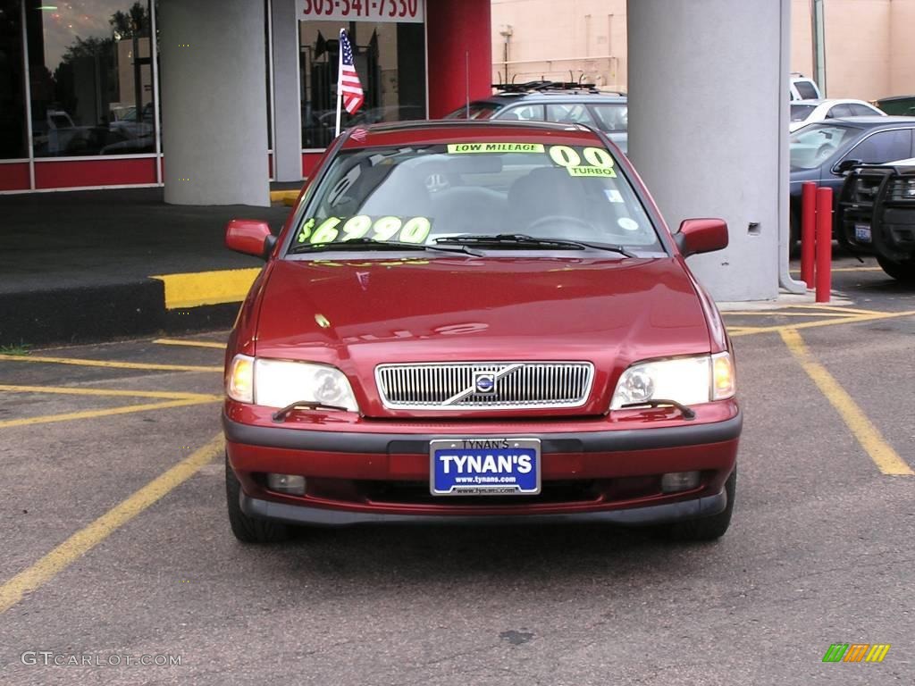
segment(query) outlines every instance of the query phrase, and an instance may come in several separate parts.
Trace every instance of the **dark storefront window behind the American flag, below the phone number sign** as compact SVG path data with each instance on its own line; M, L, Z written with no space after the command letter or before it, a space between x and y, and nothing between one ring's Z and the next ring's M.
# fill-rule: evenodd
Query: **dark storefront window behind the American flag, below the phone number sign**
M302 147L327 147L337 118L339 29L336 21L299 23ZM425 29L420 23L349 22L365 102L341 128L425 119Z

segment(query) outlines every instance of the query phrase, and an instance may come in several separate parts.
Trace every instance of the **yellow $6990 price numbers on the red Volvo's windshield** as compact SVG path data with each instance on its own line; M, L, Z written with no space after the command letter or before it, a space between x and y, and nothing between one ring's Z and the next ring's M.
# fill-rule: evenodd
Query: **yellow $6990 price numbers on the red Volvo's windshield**
M358 239L422 244L429 237L432 221L427 217L328 217L307 220L296 234L296 243L318 245Z

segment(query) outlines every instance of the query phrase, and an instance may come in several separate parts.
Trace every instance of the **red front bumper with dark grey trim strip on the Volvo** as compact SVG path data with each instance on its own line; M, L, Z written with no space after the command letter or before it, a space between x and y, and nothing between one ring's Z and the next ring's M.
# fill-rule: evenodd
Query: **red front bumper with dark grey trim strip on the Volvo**
M714 515L727 506L742 416L658 428L544 432L353 432L240 423L223 415L229 463L250 516L340 526L447 520L592 520L644 525ZM430 427L431 428L431 427ZM504 427L502 427L504 428ZM512 427L517 429L517 427ZM530 437L542 446L540 496L436 498L428 492L429 442L448 437ZM662 493L661 476L699 471L697 488ZM268 490L264 473L307 479L304 496Z

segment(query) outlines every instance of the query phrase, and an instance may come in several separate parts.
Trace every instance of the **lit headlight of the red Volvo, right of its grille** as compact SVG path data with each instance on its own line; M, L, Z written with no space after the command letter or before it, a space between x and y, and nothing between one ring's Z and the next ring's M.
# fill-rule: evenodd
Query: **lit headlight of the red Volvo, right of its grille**
M611 410L623 405L670 400L684 405L725 400L734 395L734 366L727 352L694 358L639 362L622 373Z

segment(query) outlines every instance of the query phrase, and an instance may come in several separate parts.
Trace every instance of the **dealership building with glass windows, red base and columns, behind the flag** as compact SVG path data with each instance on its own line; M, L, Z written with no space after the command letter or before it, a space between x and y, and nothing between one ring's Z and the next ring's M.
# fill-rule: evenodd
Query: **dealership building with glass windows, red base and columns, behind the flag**
M341 27L366 98L344 126L490 92L490 0L0 0L0 192L267 204L334 136Z

